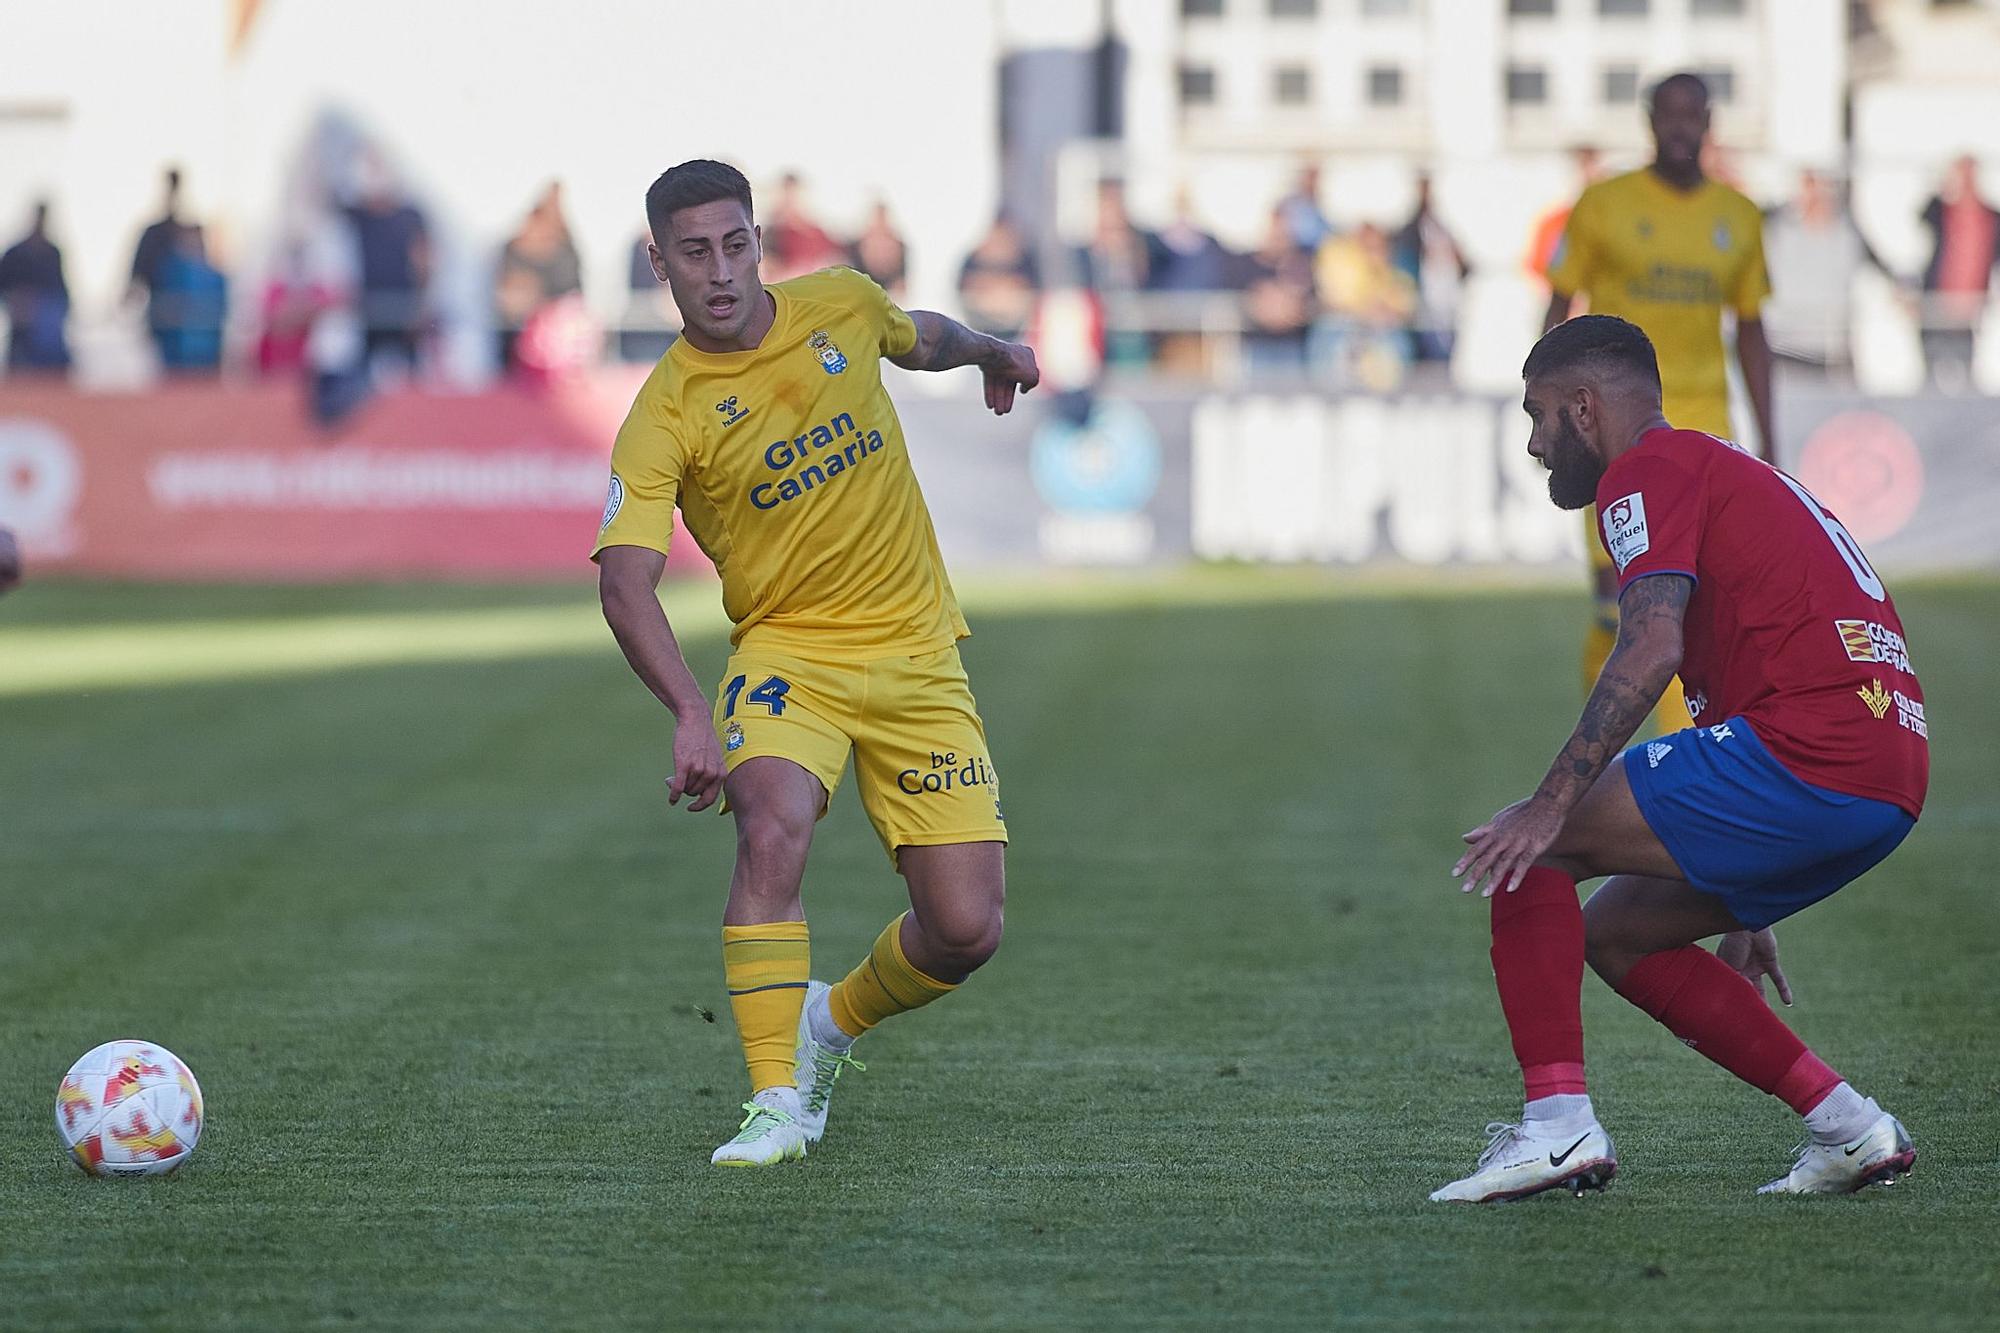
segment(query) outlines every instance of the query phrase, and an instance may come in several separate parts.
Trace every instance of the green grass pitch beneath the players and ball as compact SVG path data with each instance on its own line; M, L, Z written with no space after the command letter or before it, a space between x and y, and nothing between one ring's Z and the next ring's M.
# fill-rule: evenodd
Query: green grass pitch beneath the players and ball
M666 811L664 713L586 598L0 602L0 1327L2000 1317L2000 586L1898 588L1930 811L1780 927L1796 1027L1910 1125L1916 1175L1754 1197L1790 1113L1586 979L1618 1183L1500 1209L1424 1201L1520 1107L1448 869L1574 717L1578 598L974 588L1008 941L862 1043L808 1163L728 1173L730 835ZM842 791L818 973L898 889ZM124 1035L208 1093L168 1179L86 1179L50 1125L64 1067Z

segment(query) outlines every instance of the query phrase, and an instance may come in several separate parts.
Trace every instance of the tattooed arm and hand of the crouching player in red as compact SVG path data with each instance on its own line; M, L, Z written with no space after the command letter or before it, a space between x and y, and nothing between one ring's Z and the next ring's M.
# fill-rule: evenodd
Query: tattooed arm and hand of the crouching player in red
M1562 833L1562 821L1584 799L1632 733L1660 703L1666 683L1680 671L1682 620L1694 580L1686 574L1648 574L1618 598L1618 644L1598 675L1584 717L1570 733L1542 785L1526 801L1516 801L1466 835L1472 847L1452 875L1472 893L1486 883L1484 897L1514 893L1522 877L1548 853Z

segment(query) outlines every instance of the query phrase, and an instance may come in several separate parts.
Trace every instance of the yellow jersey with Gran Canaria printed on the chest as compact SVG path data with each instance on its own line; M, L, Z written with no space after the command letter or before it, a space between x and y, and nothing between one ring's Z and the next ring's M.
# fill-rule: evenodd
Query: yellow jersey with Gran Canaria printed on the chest
M646 376L612 448L590 552L666 552L680 506L722 574L730 640L872 660L966 636L882 358L916 324L874 280L826 268L764 288L776 318L748 352L686 338Z

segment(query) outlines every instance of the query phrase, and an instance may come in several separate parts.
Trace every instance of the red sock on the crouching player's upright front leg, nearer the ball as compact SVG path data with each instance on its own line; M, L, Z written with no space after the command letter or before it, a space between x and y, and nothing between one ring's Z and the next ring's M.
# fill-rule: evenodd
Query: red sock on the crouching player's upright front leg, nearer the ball
M1576 881L1536 867L1494 899L1494 985L1526 1099L1586 1093L1584 909Z

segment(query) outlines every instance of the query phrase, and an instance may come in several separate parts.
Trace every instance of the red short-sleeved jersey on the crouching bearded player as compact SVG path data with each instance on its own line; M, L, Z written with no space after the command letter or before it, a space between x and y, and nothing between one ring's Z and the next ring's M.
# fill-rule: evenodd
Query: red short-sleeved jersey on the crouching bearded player
M1914 819L1930 785L1924 691L1888 588L1834 514L1698 430L1652 430L1598 482L1618 590L1694 578L1680 681L1698 727L1742 717L1796 779Z

